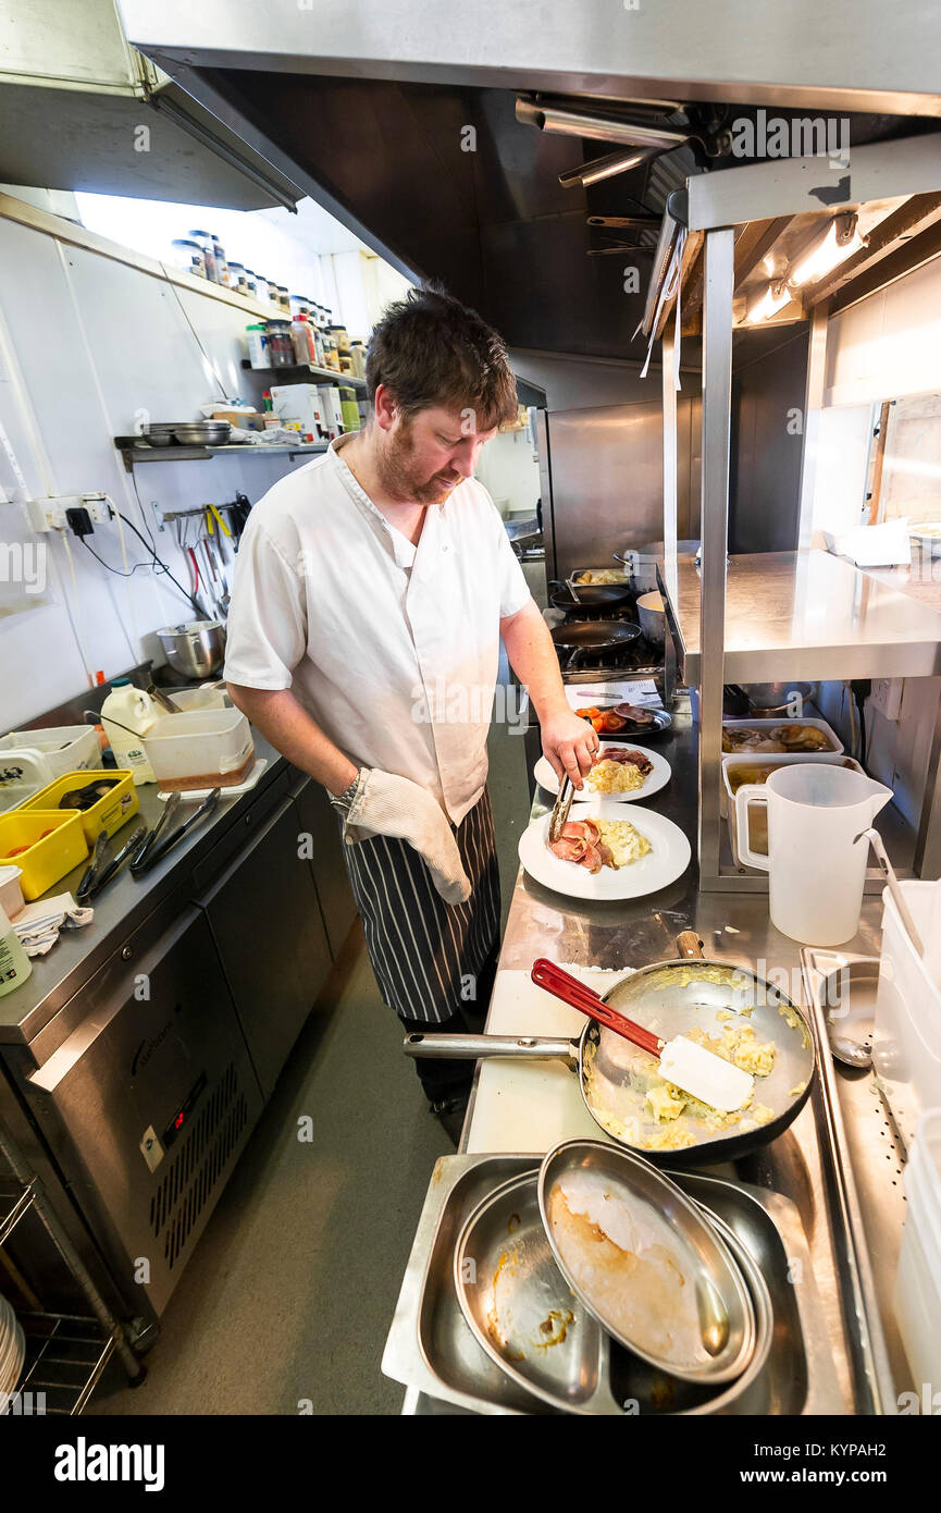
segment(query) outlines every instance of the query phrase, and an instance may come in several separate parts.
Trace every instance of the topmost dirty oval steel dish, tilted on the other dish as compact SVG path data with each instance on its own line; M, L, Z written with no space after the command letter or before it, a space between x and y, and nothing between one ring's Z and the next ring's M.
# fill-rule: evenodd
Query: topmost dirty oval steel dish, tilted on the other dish
M592 1316L620 1345L685 1381L740 1377L755 1353L755 1309L717 1230L649 1162L601 1141L551 1150L539 1207L552 1254Z

